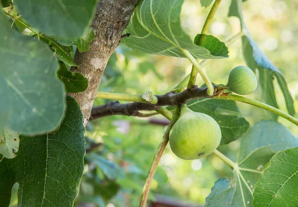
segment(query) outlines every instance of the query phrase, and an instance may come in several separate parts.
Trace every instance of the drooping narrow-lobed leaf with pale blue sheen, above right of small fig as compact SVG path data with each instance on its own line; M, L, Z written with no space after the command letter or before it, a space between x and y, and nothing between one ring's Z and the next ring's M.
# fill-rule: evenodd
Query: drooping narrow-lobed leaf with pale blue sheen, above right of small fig
M231 1L228 16L236 16L240 19L240 25L245 34L245 36L242 37L243 56L247 66L250 67L250 69L255 71L255 69L257 68L260 71L259 81L261 83L260 85L263 90L263 97L265 102L271 106L278 108L273 84L273 78L276 77L278 79L278 84L280 85L284 94L288 112L290 115L294 116L294 100L283 74L258 48L246 28L242 15L242 0ZM277 116L275 115L272 115L272 117L274 119L277 119Z

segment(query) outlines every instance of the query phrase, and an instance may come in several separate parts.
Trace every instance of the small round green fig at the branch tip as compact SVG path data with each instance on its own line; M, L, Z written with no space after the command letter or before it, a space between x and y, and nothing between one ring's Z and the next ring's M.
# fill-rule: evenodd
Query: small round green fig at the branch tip
M231 70L226 87L239 95L251 94L258 86L254 72L246 66L237 66Z

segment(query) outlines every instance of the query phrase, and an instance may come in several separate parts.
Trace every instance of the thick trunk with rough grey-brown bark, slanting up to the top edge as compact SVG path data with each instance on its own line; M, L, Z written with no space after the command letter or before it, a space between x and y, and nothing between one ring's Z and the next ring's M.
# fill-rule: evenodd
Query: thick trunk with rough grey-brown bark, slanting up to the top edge
M76 51L74 62L79 68L71 70L82 73L88 78L88 88L84 92L70 93L79 104L83 113L84 126L87 124L95 95L111 54L119 44L121 34L139 0L99 0L90 27L95 39L90 50Z

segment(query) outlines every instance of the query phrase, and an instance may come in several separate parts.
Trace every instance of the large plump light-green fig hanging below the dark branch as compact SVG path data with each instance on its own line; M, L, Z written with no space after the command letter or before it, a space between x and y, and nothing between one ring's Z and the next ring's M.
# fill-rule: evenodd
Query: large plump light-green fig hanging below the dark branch
M197 159L211 154L222 138L218 123L207 114L187 107L170 131L169 141L174 154L182 159Z

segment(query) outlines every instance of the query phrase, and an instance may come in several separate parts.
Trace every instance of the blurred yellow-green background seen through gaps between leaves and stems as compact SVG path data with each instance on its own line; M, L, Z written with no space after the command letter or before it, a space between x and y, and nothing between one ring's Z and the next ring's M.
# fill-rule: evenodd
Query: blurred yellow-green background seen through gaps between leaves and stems
M227 17L229 4L230 0L222 1L208 32L221 41L240 31L238 18ZM192 38L201 31L210 8L201 7L199 0L185 0L181 24ZM297 10L297 0L243 2L243 15L251 36L285 75L298 109ZM238 65L245 65L240 39L229 47L228 59L212 60L205 70L212 82L225 84L229 71ZM191 64L187 59L142 54L121 43L109 61L99 91L143 94L151 90L154 94L163 94L190 71ZM197 84L203 84L200 77ZM275 89L278 104L286 111L276 81ZM261 100L260 88L249 97ZM96 99L94 104L108 101ZM241 116L251 126L270 118L256 107L241 103L238 106ZM159 124L155 123L156 119ZM282 118L279 122L298 136L295 125ZM165 130L163 123L166 120L159 115L150 118L105 117L88 123L86 148L90 150L75 206L138 207L151 159ZM236 161L238 147L239 142L234 141L220 148ZM232 178L232 172L218 157L209 155L193 161L182 160L167 146L152 182L149 199L174 202L181 207L204 206L211 188L221 177ZM150 205L153 207L153 203Z

